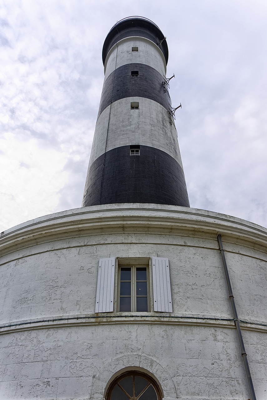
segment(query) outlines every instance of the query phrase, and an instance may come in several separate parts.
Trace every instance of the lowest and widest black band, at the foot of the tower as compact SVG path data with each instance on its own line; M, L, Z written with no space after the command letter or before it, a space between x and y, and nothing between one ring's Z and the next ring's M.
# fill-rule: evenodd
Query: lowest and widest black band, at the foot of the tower
M117 147L92 163L86 178L84 207L114 203L190 207L185 177L177 161L162 150L139 148L140 155L131 156L130 146Z

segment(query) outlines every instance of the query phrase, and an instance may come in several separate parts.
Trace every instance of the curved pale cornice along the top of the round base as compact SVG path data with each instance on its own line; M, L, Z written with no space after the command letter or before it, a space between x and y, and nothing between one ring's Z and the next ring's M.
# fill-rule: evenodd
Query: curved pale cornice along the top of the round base
M267 229L225 214L161 204L107 204L62 211L14 226L0 234L0 252L49 242L55 238L109 232L194 235L220 233L223 240L267 247Z

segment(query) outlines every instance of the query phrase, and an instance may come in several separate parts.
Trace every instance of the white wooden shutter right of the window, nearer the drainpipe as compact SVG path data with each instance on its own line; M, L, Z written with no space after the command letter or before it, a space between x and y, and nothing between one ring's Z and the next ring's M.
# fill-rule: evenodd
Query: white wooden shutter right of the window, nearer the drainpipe
M152 257L154 311L172 312L169 260Z

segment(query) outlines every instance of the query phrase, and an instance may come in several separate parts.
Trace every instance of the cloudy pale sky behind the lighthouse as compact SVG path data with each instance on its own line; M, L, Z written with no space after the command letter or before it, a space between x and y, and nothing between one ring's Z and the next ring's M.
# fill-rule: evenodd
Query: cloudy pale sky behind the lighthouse
M132 15L167 38L191 207L267 226L266 0L0 0L0 232L81 206L102 46Z

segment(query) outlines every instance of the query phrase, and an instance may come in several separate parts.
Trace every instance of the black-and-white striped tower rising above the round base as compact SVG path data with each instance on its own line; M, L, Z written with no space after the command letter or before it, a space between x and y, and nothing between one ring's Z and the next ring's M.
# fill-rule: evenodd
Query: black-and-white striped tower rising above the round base
M143 17L117 22L103 47L105 79L82 206L189 207L166 80L168 47Z

